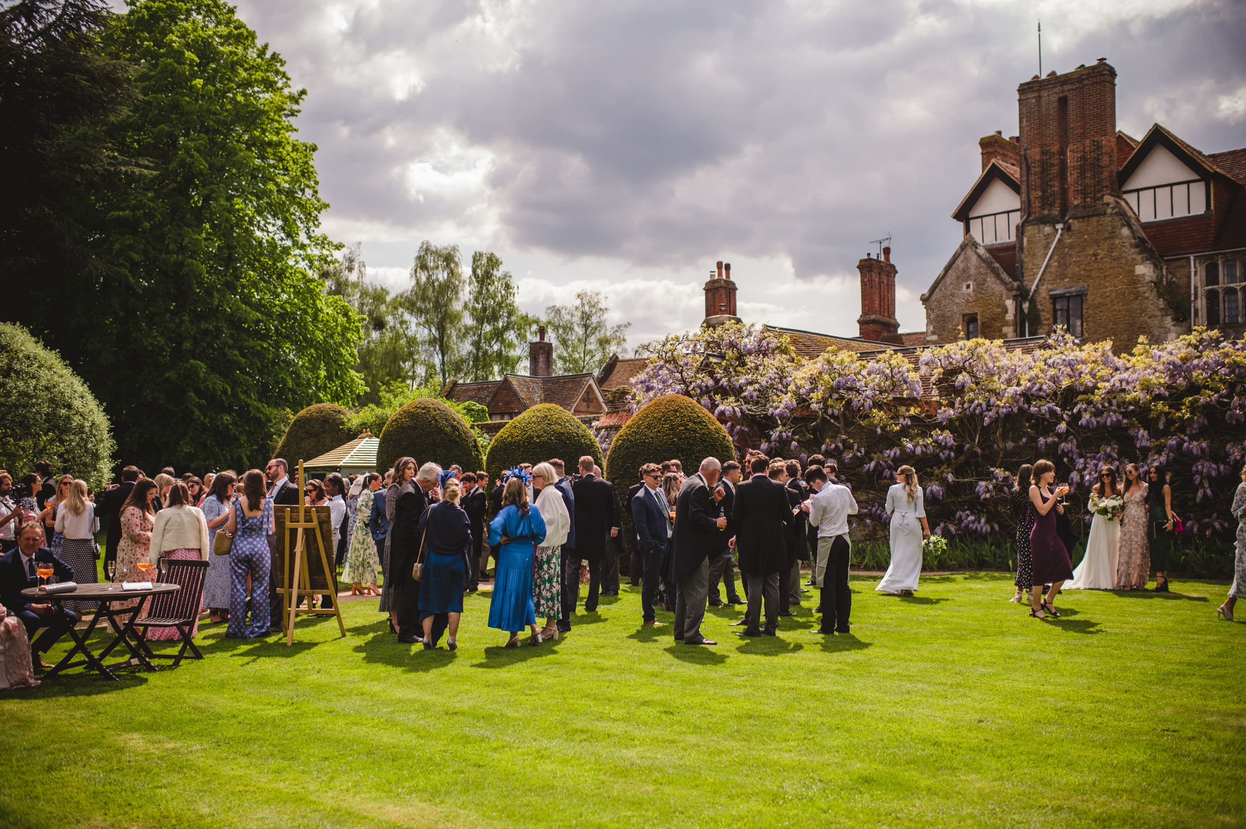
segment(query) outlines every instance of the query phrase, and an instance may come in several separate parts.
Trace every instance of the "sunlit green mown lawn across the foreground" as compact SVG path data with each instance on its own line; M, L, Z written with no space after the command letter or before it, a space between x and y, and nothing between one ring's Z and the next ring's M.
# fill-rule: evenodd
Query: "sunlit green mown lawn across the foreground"
M293 648L211 626L204 662L0 693L0 825L1246 825L1225 585L1067 592L1040 622L1002 573L875 583L851 636L809 632L810 593L776 638L711 611L713 648L640 628L627 586L518 651L487 593L457 653L399 646L374 601Z

